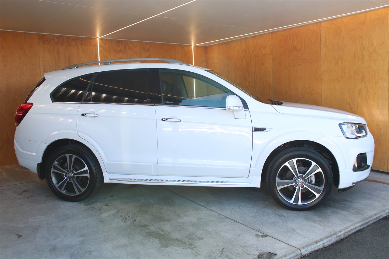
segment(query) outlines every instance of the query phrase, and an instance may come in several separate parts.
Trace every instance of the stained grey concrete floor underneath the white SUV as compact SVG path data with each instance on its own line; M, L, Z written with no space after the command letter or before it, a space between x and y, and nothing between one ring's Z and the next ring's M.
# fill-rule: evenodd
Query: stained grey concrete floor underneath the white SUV
M389 214L389 174L320 207L286 210L262 188L103 184L81 202L0 168L0 258L299 258Z

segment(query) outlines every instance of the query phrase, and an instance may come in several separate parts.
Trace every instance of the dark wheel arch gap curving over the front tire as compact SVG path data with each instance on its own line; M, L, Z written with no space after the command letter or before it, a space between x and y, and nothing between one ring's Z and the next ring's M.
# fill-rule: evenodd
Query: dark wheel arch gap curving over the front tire
M336 187L339 185L339 166L335 156L324 145L311 140L293 140L290 142L286 142L282 145L279 145L276 149L274 149L266 158L265 163L262 167L261 182L266 180L266 172L273 158L275 158L275 156L277 156L280 152L284 151L285 149L289 149L293 147L304 147L307 149L312 149L313 151L316 151L319 154L321 154L324 157L324 159L326 159L329 166L331 167L334 185Z

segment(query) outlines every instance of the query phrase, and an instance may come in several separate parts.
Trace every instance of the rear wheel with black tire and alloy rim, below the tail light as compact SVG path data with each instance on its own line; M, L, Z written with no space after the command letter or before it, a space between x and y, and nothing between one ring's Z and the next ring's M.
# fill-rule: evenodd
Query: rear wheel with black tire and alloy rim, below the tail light
M103 173L89 149L68 145L57 149L47 159L46 182L62 200L81 201L98 190Z

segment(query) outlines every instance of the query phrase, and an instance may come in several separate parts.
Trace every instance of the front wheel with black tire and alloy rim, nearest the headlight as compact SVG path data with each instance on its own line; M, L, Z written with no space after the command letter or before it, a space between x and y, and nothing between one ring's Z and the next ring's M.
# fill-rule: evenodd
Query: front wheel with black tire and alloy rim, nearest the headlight
M310 210L331 193L331 167L321 154L307 148L286 149L270 162L266 182L277 203L290 210Z

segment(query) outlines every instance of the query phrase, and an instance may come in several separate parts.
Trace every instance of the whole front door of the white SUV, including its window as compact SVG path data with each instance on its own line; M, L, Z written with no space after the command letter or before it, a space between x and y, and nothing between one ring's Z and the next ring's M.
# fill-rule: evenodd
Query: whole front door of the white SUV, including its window
M252 153L250 113L226 110L231 93L198 74L161 70L156 105L158 175L247 177Z

